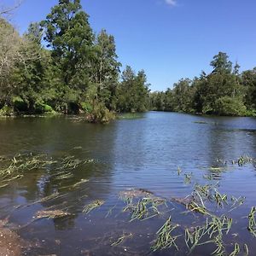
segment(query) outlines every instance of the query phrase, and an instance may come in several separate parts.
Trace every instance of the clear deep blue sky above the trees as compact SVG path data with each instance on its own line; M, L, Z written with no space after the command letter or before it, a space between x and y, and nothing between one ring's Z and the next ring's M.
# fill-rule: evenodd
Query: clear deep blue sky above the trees
M10 5L14 0L0 0ZM23 0L12 22L20 33L43 20L58 0ZM116 40L119 61L144 69L151 90L211 72L224 51L242 70L256 67L255 0L81 0L95 32Z

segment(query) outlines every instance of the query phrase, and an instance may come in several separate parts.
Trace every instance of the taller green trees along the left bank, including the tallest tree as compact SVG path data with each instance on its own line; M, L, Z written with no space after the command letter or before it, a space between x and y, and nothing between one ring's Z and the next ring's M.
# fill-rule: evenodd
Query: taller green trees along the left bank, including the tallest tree
M146 74L120 67L114 37L93 32L80 0L59 0L22 36L0 16L1 114L84 112L108 122L113 112L146 111Z

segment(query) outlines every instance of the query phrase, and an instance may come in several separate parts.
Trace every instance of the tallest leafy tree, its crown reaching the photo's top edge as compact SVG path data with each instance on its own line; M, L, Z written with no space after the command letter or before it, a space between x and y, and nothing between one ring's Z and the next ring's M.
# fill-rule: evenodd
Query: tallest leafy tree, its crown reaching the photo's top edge
M84 89L89 83L93 32L80 0L59 0L41 25L62 82L69 89Z

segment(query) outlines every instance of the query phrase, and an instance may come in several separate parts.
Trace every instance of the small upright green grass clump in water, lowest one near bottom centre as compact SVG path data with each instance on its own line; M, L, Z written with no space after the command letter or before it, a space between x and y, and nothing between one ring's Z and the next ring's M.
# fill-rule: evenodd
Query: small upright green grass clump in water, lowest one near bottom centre
M172 217L170 216L166 223L156 232L157 239L154 242L154 246L151 249L155 252L157 250L162 250L170 247L175 247L178 251L177 247L177 238L179 236L173 236L172 232L177 229L178 224L172 224Z

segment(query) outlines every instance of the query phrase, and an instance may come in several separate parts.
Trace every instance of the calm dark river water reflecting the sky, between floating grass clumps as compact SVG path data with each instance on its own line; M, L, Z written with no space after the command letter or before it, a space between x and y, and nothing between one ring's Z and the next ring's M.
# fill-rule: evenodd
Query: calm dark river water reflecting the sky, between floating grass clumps
M232 212L228 207L226 212L214 210L234 218L225 241L227 253L238 242L241 251L247 243L250 255L256 255L256 238L247 231L245 218L256 206L255 162L231 165L231 160L241 155L256 158L256 119L157 112L109 125L88 124L75 116L0 119L0 155L13 157L19 153L47 154L54 160L67 156L94 160L68 170L71 177L58 177L58 166L46 166L27 171L24 177L0 189L0 218L9 216L13 228L30 241L26 255L186 255L188 248L182 240L177 241L178 252L171 248L152 253L150 247L170 215L174 223L189 227L202 218L200 213L182 214L186 208L173 202L171 212L130 222L129 212L122 212L125 205L119 193L145 189L168 201L191 194L195 183L217 182L221 193L246 196L245 203ZM211 174L211 166L220 165L217 159L227 161L224 172L208 181L204 175ZM190 172L191 183L185 183L184 174ZM83 179L89 181L72 187ZM40 202L53 193L61 197ZM83 214L84 206L95 200L105 203ZM46 209L65 210L72 215L34 218ZM130 233L132 237L111 246ZM197 247L192 255L210 255L212 251L214 246L209 244Z

